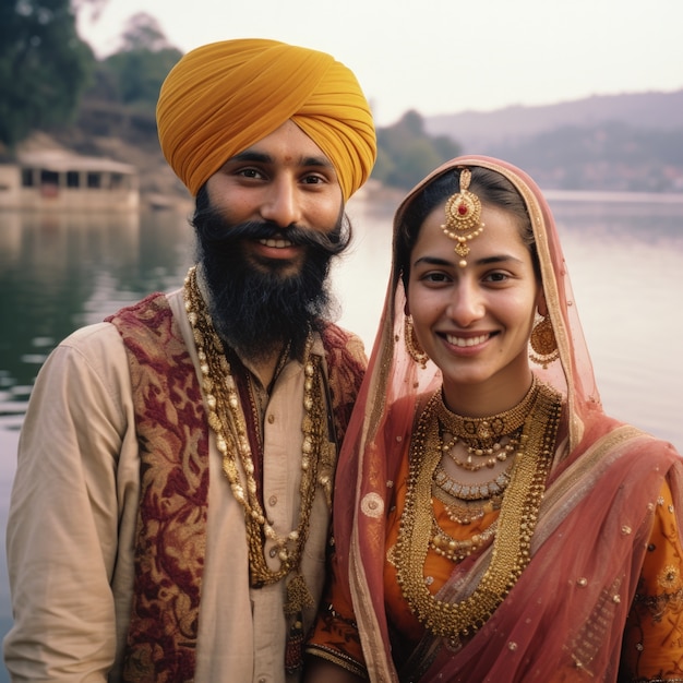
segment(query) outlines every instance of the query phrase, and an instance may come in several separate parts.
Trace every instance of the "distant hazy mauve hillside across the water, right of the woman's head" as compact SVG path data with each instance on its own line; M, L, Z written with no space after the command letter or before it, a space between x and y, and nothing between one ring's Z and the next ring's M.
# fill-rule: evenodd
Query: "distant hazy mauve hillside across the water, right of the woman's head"
M683 192L683 91L427 117L424 128L544 189Z

